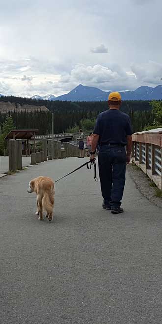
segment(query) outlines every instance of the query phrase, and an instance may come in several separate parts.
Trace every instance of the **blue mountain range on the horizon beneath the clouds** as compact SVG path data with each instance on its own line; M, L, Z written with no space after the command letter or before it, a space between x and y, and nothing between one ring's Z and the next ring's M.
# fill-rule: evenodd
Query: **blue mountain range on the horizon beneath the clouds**
M95 87L84 86L79 84L76 88L70 92L55 97L52 94L46 96L34 95L31 99L38 100L62 100L62 101L104 101L108 100L108 96L111 91L103 91ZM162 85L158 85L155 88L149 86L141 86L133 91L119 91L122 100L162 100ZM0 94L0 97L2 94Z

